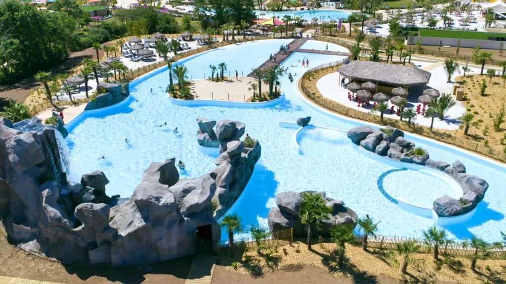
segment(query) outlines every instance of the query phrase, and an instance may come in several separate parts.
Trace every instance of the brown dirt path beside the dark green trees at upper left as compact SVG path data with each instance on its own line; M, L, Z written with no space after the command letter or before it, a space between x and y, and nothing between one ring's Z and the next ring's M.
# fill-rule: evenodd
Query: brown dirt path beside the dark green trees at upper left
M112 43L106 43L105 45L110 46ZM99 51L99 56L104 56L103 50ZM97 53L93 48L73 52L66 61L47 71L51 71L53 74L70 72L75 67L81 65L85 58L97 59ZM40 87L40 85L40 82L36 81L33 77L28 77L11 85L0 85L0 108L3 108L7 104L7 100L23 103L30 96L30 91Z

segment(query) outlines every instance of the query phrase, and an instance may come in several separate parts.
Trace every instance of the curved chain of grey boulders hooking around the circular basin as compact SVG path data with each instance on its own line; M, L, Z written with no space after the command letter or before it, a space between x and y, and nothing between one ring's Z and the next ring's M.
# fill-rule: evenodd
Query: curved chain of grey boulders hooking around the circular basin
M413 141L404 138L404 132L391 126L385 127L384 131L370 126L357 126L348 131L348 138L360 147L376 153L380 156L388 156L393 160L405 163L424 165L437 169L451 176L462 188L462 197L458 200L449 196L442 196L433 202L433 210L443 217L457 216L473 210L483 200L488 189L488 183L475 175L466 173L466 167L460 161L455 161L451 166L444 161L434 161L429 158L429 153L415 156Z

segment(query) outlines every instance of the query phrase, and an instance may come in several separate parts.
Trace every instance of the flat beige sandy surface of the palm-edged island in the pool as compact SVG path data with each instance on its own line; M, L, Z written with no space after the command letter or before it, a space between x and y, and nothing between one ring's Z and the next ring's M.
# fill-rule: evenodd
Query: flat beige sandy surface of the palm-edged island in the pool
M233 72L233 71L232 71ZM249 82L258 84L258 80L250 77L229 77L227 81L212 82L210 80L193 80L192 92L197 94L197 100L222 100L244 102L253 96L248 90ZM262 92L269 90L269 86L262 83ZM257 90L258 93L258 90ZM229 96L227 96L227 94Z

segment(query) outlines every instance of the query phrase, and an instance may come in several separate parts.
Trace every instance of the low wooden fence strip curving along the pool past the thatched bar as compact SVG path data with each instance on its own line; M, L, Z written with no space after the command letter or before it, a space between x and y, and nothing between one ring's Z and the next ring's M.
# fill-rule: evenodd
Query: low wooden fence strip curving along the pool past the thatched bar
M306 72L301 79L301 90L304 93L306 97L308 97L311 101L313 101L315 104L326 108L328 110L331 110L333 112L360 119L363 121L375 123L375 124L383 124L383 125L390 125L395 128L399 128L401 130L409 131L411 133L415 133L418 135L426 136L429 138L432 138L434 140L441 141L446 144L454 145L457 147L460 147L462 149L466 149L472 152L476 152L478 154L481 154L483 156L495 159L497 161L500 161L502 163L506 163L506 150L501 151L497 150L495 148L492 148L490 146L485 146L484 144L477 143L475 141L471 141L468 139L463 139L461 137L454 136L449 133L445 132L438 132L438 131L430 131L429 127L416 125L414 123L411 123L411 126L408 126L407 123L401 122L396 119L391 118L384 118L383 122L380 121L379 115L362 112L359 110L355 110L349 107L346 107L344 105L341 105L339 103L336 103L335 101L332 101L330 99L324 98L321 96L321 93L318 91L317 93L309 91L309 89L306 87L306 80L309 77L312 77L314 75L314 72L318 72L321 69L325 69L332 66L337 66L339 64L342 64L343 62L334 62L329 64L324 64L321 66L314 67L310 69L308 72Z

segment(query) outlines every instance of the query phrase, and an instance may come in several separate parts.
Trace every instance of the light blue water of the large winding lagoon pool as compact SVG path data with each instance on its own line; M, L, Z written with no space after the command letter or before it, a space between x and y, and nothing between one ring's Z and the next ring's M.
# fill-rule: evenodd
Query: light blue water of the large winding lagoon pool
M261 40L225 46L211 52L183 60L192 78L208 76L208 65L226 62L239 74L249 73L263 63L279 45L289 40ZM315 49L326 43L314 43ZM318 47L318 46L320 47ZM339 56L292 54L282 65L297 80L307 70L299 60L308 58L310 67L341 59ZM295 75L297 74L297 75ZM244 192L229 210L237 212L244 224L265 223L277 193L284 191L325 191L329 197L341 199L359 216L381 220L379 233L385 235L420 236L433 224L432 219L400 209L378 189L378 179L396 169L382 159L371 159L353 145L345 133L315 128L299 137L301 153L295 149L296 129L279 127L279 121L296 121L311 116L311 123L348 130L360 123L325 114L310 106L296 91L287 77L281 79L285 100L277 106L259 109L226 107L185 107L172 105L164 89L168 73L162 68L131 83L131 98L117 106L86 112L69 124L66 138L69 148L69 179L94 170L103 170L110 180L109 195L129 197L142 178L142 172L152 161L175 157L185 162L187 169L181 177L196 177L215 167L216 157L203 154L196 141L198 117L233 119L246 124L246 132L258 138L262 158L255 168ZM153 88L153 92L150 89ZM167 122L167 127L159 127ZM179 133L172 129L178 127ZM430 152L431 158L452 163L462 161L468 173L486 179L489 190L468 222L446 226L453 238L469 238L472 233L487 241L497 241L499 231L506 230L506 192L503 181L506 169L449 147L407 135L417 146ZM128 138L129 143L124 139ZM97 160L104 155L105 160ZM393 198L430 206L434 198L455 195L444 180L415 170L395 171L383 178L384 191Z

